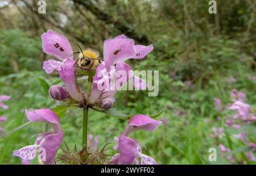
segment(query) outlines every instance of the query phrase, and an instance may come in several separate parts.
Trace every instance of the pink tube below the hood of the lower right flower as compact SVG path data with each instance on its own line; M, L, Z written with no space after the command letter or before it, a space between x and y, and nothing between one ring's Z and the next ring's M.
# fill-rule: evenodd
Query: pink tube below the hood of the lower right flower
M121 165L131 165L133 164L135 158L139 156L139 151L141 150L141 146L139 143L131 139L130 137L126 137L121 135L119 137L119 164Z

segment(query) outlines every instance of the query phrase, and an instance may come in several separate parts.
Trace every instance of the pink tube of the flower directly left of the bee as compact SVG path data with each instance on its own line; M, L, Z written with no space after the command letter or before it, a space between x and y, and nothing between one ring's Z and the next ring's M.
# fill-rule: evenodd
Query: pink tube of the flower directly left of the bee
M59 75L61 80L64 82L65 87L67 87L69 95L77 101L81 102L83 100L83 95L81 91L77 90L75 83L75 70L73 68L75 61L72 58L67 58L61 63L61 69Z

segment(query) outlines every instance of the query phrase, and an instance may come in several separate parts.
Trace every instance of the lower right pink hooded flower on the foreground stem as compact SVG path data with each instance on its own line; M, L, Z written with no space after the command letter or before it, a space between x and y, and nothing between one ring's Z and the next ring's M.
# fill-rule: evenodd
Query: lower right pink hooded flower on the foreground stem
M137 140L128 136L138 129L154 131L161 123L162 122L151 119L146 115L135 115L131 118L125 131L119 137L119 154L115 154L110 164L130 165L134 164L137 158L141 158L142 165L157 164L152 157L142 153L141 144Z

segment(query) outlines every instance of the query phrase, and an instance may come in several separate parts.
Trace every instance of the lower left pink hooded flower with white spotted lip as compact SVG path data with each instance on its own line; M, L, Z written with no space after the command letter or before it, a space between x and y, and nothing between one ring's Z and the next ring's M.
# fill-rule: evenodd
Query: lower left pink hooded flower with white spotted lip
M14 156L18 156L22 160L32 160L36 157L36 153L39 152L40 160L43 161L43 164L55 164L55 155L63 140L63 131L60 127L59 117L49 109L26 110L26 115L28 120L32 122L50 124L54 132L40 133L34 145L14 150Z

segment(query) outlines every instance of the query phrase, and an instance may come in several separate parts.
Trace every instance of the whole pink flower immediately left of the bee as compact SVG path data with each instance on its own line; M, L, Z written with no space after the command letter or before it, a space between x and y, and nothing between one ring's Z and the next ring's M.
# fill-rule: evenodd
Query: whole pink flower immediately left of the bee
M79 102L84 99L81 91L77 89L75 83L75 61L73 58L73 50L66 37L53 32L52 30L43 33L43 51L48 55L55 56L59 61L48 60L44 61L43 69L46 73L52 73L53 70L59 72L61 80L64 82L65 87L67 87L69 95Z

